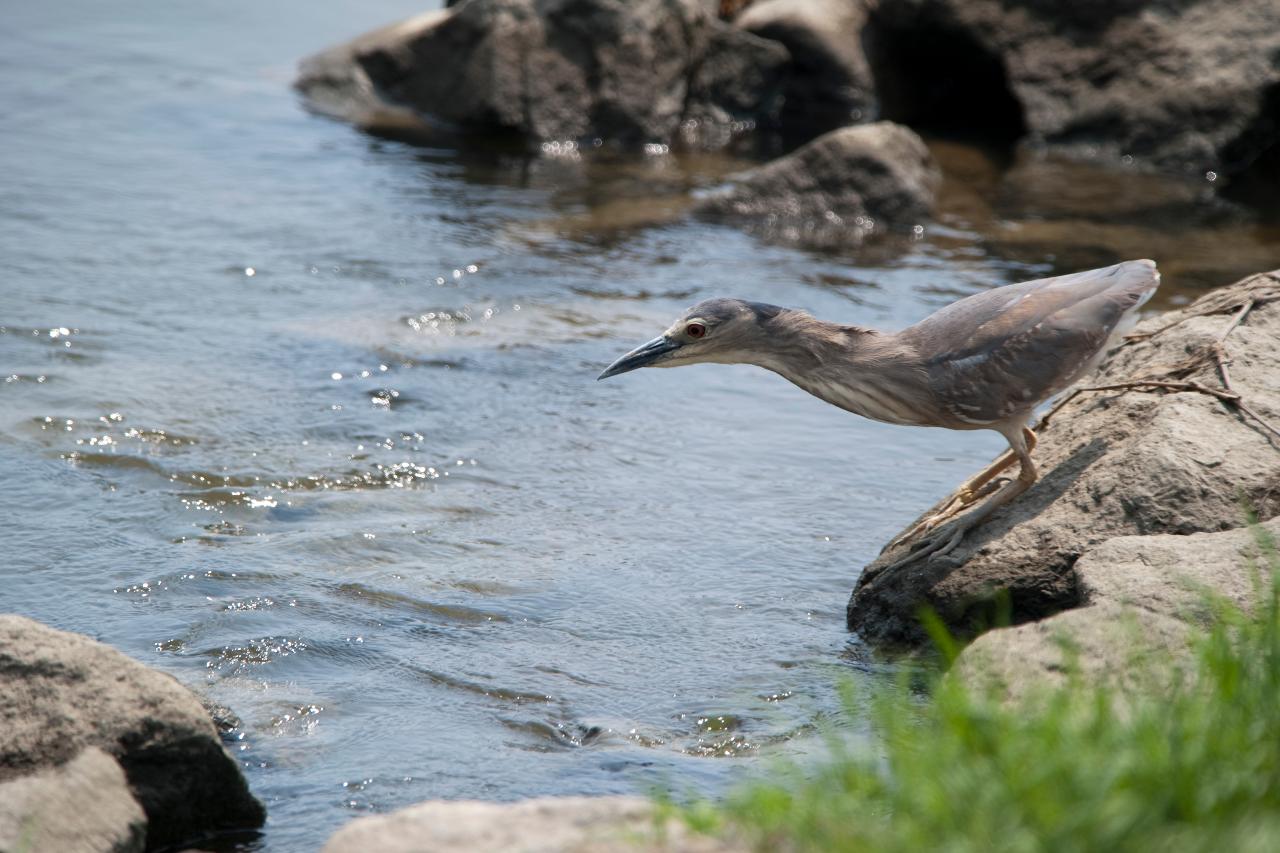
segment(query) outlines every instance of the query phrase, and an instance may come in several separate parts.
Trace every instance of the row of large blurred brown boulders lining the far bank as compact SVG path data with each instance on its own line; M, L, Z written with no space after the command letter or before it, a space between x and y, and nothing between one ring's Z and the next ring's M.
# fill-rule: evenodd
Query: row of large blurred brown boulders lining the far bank
M1280 167L1277 50L1271 0L465 0L314 55L296 85L317 111L463 145L892 120L1220 188Z

